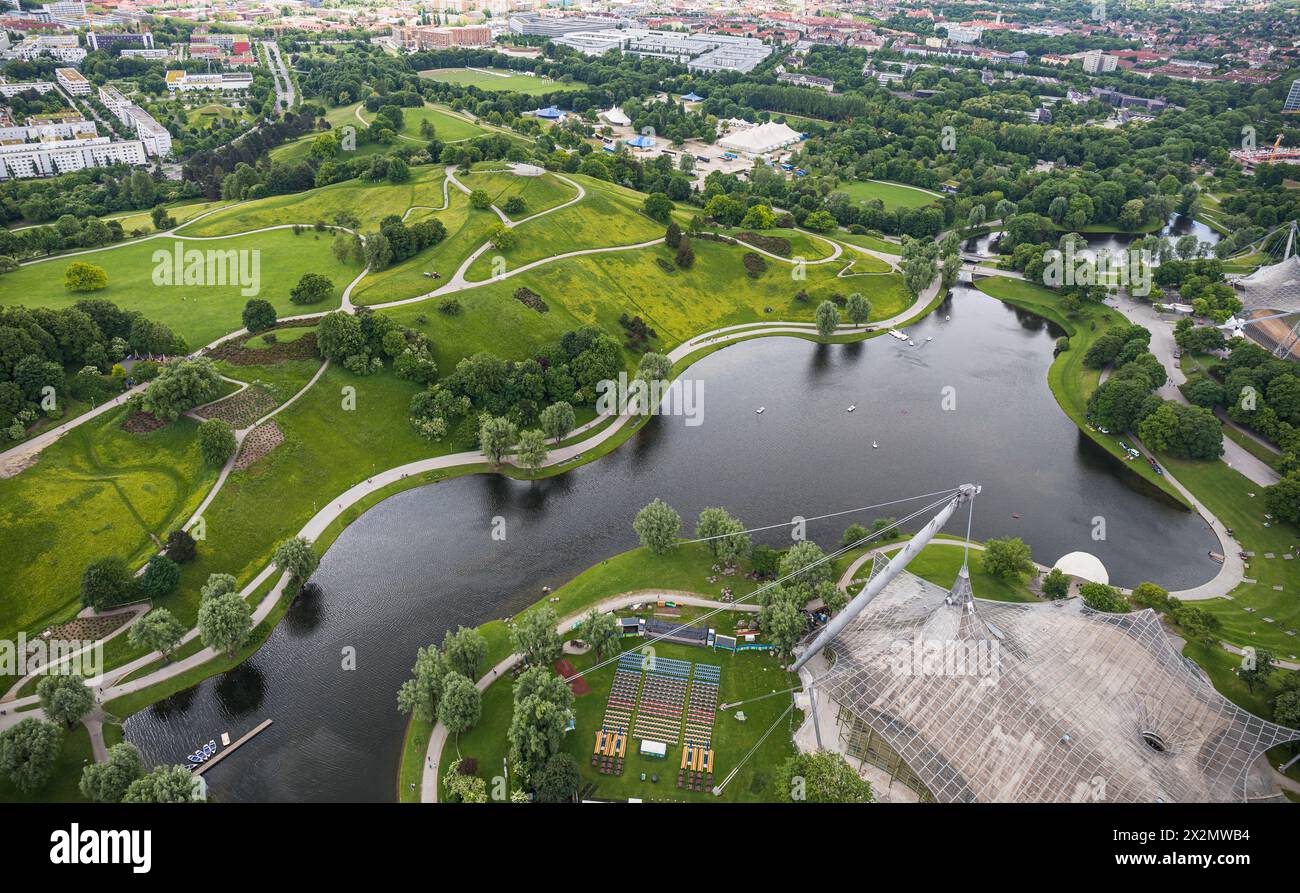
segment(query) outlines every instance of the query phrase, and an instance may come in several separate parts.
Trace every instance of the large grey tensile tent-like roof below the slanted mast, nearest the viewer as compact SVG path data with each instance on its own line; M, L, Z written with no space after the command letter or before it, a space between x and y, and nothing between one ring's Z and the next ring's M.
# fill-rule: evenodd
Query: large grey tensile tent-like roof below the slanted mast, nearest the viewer
M1300 740L1219 694L1154 611L976 599L965 567L950 591L893 577L814 660L822 745L922 801L1244 802L1275 797L1257 760Z

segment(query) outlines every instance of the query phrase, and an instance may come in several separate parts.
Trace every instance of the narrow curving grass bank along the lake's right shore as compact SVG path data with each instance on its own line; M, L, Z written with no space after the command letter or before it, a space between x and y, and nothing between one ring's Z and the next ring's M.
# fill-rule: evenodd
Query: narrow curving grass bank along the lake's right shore
M1067 317L1057 304L1057 296L1043 286L1013 279L1002 276L989 276L979 279L975 287L984 294L997 298L1008 304L1032 311L1039 316L1052 320L1070 335L1070 350L1060 354L1048 369L1048 386L1056 396L1057 403L1065 415L1079 426L1093 442L1100 443L1115 461L1132 469L1135 474L1148 484L1158 487L1179 504L1186 506L1186 500L1162 476L1152 471L1145 461L1126 461L1124 452L1119 448L1118 437L1106 435L1093 430L1088 425L1088 396L1097 389L1101 380L1098 369L1088 369L1083 365L1083 355L1088 351L1092 341L1105 331L1108 326L1124 324L1127 320L1115 311L1102 304L1084 304L1079 312ZM1179 478L1182 480L1182 478Z

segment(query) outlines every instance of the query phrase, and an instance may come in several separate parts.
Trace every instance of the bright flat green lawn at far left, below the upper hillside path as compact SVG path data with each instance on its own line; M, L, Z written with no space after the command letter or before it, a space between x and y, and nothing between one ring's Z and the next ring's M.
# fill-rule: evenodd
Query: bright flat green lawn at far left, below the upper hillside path
M222 213L235 211L218 212ZM207 222L200 221L200 225ZM307 229L299 235L294 235L292 230L274 230L211 242L172 238L127 242L75 259L108 273L108 286L100 291L74 292L64 289L64 270L73 260L53 259L29 264L6 274L0 303L61 308L83 298L110 300L124 309L140 311L151 320L168 324L191 348L198 348L239 329L243 325L240 313L251 296L269 300L281 316L338 307L343 287L356 277L358 270L334 259L330 252L332 239L329 233ZM256 295L243 294L240 285L229 279L225 285L211 286L155 285L155 269L159 268L155 252L174 259L177 244L183 251L257 251L260 281ZM244 257L248 257L243 261L244 269L251 270L251 255ZM289 292L306 273L329 277L334 282L334 299L312 305L291 303Z

